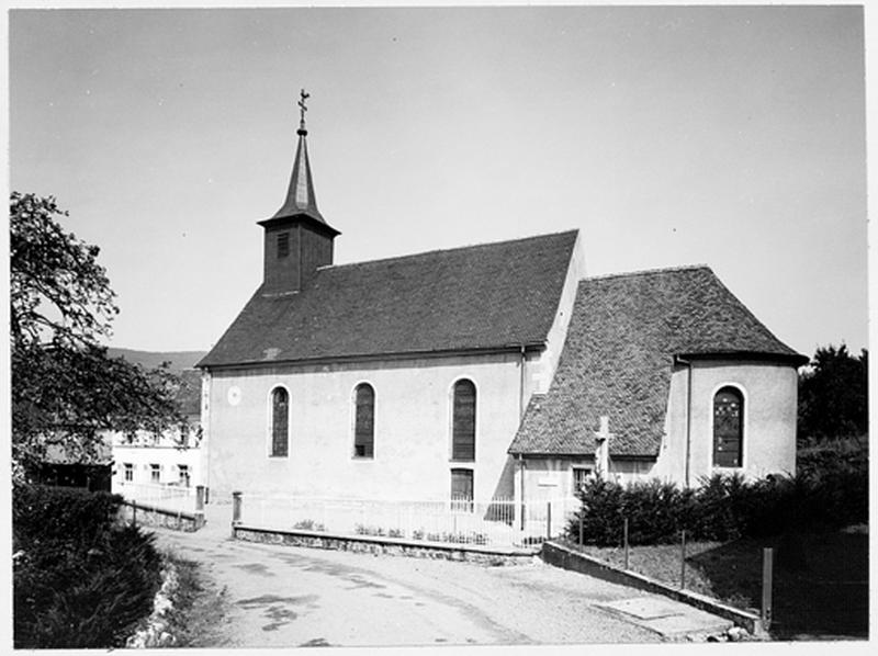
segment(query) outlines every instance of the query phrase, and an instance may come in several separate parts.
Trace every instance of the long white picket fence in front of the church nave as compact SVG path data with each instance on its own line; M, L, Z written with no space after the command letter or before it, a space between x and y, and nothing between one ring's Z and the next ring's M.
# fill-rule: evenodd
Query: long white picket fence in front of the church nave
M414 501L251 494L238 499L236 517L254 528L507 546L562 534L579 504L574 498L522 505L508 498Z

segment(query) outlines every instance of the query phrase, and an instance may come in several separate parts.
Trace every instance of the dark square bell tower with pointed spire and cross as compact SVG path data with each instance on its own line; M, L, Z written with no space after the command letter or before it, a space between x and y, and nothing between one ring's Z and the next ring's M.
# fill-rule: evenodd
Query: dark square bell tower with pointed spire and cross
M301 292L318 267L333 263L333 241L341 234L327 224L317 210L308 162L308 131L305 128L305 101L308 98L309 94L302 89L296 131L299 146L286 199L274 216L259 222L264 229L263 294Z

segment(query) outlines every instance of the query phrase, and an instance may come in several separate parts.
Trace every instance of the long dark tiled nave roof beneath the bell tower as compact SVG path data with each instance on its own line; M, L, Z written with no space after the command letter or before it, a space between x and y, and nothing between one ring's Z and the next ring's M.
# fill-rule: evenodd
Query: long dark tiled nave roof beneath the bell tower
M257 290L202 367L544 343L577 231L318 269Z

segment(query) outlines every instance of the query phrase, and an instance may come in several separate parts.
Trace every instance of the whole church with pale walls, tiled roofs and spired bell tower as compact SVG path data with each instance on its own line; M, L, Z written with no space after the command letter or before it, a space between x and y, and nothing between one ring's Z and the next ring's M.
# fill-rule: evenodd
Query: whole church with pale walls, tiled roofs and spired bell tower
M202 371L205 484L520 502L596 472L792 472L797 367L707 267L588 278L577 230L336 264L304 111L263 281Z

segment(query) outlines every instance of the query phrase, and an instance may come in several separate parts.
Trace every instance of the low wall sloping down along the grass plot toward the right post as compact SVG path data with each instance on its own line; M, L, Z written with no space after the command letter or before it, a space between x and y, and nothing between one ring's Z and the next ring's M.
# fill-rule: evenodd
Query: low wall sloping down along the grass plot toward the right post
M689 606L713 613L720 618L731 620L736 625L743 626L754 635L767 635L759 615L748 613L733 606L728 606L717 599L706 597L705 595L673 588L654 578L638 574L637 572L621 569L582 552L570 550L556 542L544 542L541 556L543 561L555 567L587 574L588 576L594 576L601 580L629 586L646 592L664 595L665 597L671 597L683 603L688 603Z

